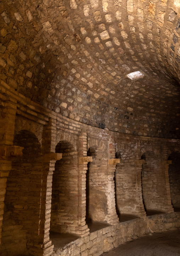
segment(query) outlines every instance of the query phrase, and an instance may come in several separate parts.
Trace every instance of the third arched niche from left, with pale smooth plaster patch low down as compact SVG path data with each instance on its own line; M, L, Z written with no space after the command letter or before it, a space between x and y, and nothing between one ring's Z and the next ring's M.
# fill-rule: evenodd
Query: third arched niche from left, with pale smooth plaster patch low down
M103 174L105 171L103 164L105 166L106 161L102 157L103 153L96 145L89 147L87 152L88 156L92 156L92 162L88 163L86 173L86 223L88 227L94 221L105 221L107 215L106 181Z

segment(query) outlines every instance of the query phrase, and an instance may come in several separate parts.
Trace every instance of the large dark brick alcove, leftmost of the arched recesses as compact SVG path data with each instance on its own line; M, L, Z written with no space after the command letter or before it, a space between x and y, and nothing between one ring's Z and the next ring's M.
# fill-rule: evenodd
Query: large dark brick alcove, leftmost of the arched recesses
M1 256L28 254L38 243L40 230L41 145L27 130L17 132L13 145L24 149L22 157L13 158L7 178Z

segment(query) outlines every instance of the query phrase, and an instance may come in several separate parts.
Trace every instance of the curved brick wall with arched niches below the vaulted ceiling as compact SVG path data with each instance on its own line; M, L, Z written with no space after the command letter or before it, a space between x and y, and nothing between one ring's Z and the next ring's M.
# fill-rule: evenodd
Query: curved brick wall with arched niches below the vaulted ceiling
M169 176L178 171L179 140L92 127L47 110L3 81L1 91L2 255L100 255L180 227L173 209L179 183ZM146 216L150 211L163 214ZM136 219L122 223L125 214ZM108 226L90 233L89 219ZM53 232L81 238L57 248Z

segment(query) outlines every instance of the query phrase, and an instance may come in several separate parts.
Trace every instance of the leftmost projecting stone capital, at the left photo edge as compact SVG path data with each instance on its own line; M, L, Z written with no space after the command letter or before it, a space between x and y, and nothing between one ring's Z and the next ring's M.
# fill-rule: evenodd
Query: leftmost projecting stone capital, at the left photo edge
M12 157L22 156L23 147L19 146L0 146L0 159L11 160Z

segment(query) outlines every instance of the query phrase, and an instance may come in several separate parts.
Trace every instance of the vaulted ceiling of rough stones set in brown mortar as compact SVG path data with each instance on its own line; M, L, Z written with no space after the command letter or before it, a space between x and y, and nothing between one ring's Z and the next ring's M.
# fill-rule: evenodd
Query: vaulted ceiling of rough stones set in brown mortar
M19 93L92 126L179 137L179 0L3 0L0 14L0 78Z

